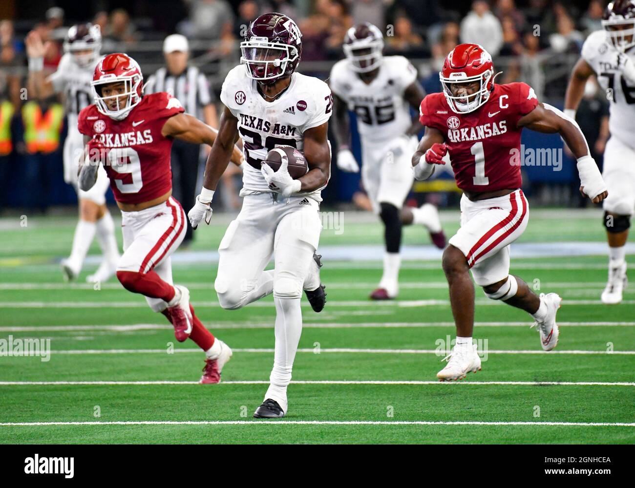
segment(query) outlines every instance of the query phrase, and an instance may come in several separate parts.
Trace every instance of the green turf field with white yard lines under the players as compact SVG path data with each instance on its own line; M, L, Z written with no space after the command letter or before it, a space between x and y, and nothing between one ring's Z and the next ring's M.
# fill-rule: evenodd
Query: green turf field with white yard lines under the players
M449 235L458 212L443 214ZM524 243L603 241L601 211L533 212ZM229 219L197 231L187 252L215 250ZM223 383L199 385L203 353L175 341L163 316L116 280L99 289L62 283L56 259L74 219L0 219L1 341L50 339L42 357L0 354L2 443L628 443L635 442L635 288L604 306L603 255L513 257L512 273L558 292L558 348L543 353L522 311L476 291L474 337L483 370L438 383L454 337L440 262L404 262L398 301L370 302L379 261L326 261L328 304L305 327L284 421L251 417L273 362L271 297L237 311L218 306L215 264L174 266L197 315L234 349ZM321 245L381 243L382 229L345 213ZM119 236L121 240L121 236ZM408 228L408 245L427 245ZM91 254L98 252L97 245ZM179 251L181 252L181 251ZM635 269L635 261L629 262ZM6 346L5 349L6 351Z

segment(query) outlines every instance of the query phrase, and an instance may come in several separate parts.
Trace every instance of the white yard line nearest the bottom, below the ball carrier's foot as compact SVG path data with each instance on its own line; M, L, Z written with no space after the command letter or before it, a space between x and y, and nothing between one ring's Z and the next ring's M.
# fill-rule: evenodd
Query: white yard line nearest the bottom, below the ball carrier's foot
M330 420L217 420L217 421L96 421L96 422L3 422L3 427L41 427L66 425L478 425L478 426L548 426L548 427L635 427L623 422L486 422L486 421L330 421Z

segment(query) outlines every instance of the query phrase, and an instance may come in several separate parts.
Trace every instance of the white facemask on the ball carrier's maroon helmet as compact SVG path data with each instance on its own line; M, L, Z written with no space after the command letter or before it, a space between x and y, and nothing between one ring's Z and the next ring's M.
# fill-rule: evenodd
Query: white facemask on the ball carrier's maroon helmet
M240 44L241 64L248 67L248 76L264 85L272 85L284 77L286 67L298 59L298 50L291 44L271 43L266 37L251 37Z

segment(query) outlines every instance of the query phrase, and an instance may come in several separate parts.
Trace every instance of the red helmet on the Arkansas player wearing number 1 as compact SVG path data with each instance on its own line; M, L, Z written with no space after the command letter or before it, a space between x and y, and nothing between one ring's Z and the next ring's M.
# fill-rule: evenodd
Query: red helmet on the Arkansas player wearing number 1
M450 108L457 114L473 112L490 98L494 85L494 65L488 53L479 44L458 44L445 58L439 72L443 94ZM450 85L474 83L481 86L475 93L453 95Z

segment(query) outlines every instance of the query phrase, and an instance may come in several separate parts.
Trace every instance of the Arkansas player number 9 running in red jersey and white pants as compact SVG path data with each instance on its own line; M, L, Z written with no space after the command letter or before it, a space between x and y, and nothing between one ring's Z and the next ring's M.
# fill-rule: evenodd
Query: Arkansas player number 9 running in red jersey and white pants
M177 341L189 337L205 351L201 383L218 383L232 351L196 317L189 290L173 285L170 261L187 227L181 204L171 196L173 139L211 146L217 133L185 114L178 99L168 93L144 96L141 70L128 55L102 58L91 85L95 104L79 113L79 132L88 153L79 187L90 189L98 168L104 166L122 215L124 253L117 262L117 278L170 320ZM237 149L232 161L241 162Z

